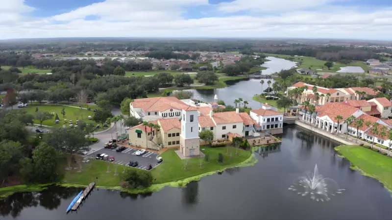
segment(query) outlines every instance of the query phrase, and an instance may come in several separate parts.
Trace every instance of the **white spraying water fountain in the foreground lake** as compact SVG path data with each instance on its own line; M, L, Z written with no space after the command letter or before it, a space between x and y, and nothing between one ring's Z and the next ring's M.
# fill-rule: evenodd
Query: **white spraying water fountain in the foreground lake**
M297 191L303 197L310 196L316 201L329 201L331 196L341 194L345 189L339 189L338 184L331 178L319 175L317 164L314 173L306 172L305 176L295 179L289 190Z

